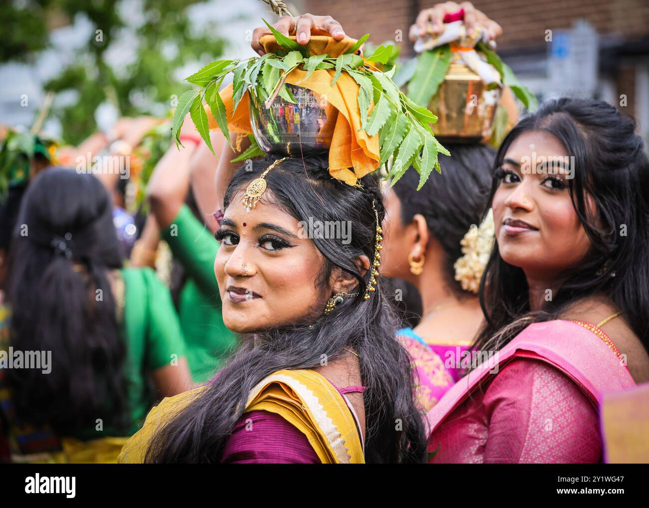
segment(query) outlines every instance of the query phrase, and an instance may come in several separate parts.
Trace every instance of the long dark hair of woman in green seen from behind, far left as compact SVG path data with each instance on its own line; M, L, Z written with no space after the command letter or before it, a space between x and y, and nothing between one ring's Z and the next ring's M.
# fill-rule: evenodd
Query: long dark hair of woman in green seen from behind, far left
M126 424L125 343L108 269L121 267L110 197L93 175L43 171L21 204L7 296L14 350L51 352L51 372L10 369L21 422L60 435Z

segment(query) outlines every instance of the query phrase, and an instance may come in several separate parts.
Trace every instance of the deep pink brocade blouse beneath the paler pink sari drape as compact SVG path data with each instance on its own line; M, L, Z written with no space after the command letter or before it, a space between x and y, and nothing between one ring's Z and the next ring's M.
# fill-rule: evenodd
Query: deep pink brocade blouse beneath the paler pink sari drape
M459 381L461 383L463 381ZM430 463L597 463L595 407L562 372L517 358L432 433Z

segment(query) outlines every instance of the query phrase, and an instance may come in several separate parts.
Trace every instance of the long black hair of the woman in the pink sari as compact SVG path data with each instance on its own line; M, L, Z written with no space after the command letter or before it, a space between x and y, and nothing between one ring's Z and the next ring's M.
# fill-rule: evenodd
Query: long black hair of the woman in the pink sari
M509 132L495 169L511 143L530 130L550 132L574 157L574 178L567 181L591 248L563 274L552 300L532 312L524 272L502 259L496 243L480 282L486 322L475 346L500 349L531 322L557 319L572 302L602 293L649 350L649 162L633 120L602 101L548 101ZM490 203L500 178L495 171ZM594 212L587 210L586 195L594 200Z

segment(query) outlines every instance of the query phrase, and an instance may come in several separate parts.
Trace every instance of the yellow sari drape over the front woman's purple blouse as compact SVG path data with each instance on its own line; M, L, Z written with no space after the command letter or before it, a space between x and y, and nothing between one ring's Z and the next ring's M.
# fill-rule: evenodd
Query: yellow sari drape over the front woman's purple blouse
M155 431L201 394L204 387L165 398L125 444L119 463L143 463ZM356 422L343 396L313 370L278 370L251 391L245 412L269 411L299 429L324 464L365 463Z

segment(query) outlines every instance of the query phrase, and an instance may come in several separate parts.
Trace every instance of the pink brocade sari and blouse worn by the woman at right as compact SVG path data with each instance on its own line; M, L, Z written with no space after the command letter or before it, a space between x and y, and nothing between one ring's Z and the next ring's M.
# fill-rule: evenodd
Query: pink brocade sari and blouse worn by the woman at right
M611 345L577 322L528 326L428 411L429 462L600 462L598 398L635 386Z

